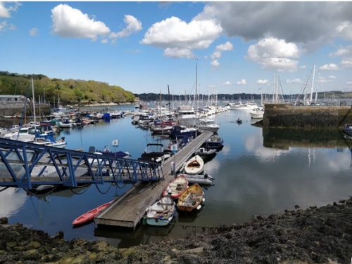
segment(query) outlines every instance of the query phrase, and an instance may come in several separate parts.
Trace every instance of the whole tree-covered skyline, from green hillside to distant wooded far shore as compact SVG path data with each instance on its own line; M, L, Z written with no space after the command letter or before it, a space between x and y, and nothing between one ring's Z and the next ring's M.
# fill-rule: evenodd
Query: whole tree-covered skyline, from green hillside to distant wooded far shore
M25 95L32 98L31 79L34 80L35 100L42 102L57 102L58 99L63 104L89 104L89 103L135 103L136 100L150 101L175 101L188 102L194 100L194 95L170 95L168 93L132 93L120 86L111 86L102 81L84 81L79 79L56 79L49 78L44 74L18 74L0 71L0 95ZM196 100L260 100L270 98L270 95L256 93L233 93L218 95L197 95ZM285 100L297 98L295 95L282 95ZM318 99L322 98L351 98L351 92L329 91L319 92Z

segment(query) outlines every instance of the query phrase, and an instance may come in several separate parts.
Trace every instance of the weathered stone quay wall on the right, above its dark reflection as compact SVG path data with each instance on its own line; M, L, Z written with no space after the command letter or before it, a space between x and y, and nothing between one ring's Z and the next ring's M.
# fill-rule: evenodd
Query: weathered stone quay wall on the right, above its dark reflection
M341 128L352 124L351 106L294 106L265 104L263 126L286 128Z

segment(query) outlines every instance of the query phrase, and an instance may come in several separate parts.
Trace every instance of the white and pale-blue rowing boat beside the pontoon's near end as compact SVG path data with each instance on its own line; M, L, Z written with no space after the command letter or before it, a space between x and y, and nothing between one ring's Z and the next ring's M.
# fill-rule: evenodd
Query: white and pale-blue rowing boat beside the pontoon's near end
M168 225L175 216L176 204L170 196L161 197L156 203L146 209L146 223L148 225Z

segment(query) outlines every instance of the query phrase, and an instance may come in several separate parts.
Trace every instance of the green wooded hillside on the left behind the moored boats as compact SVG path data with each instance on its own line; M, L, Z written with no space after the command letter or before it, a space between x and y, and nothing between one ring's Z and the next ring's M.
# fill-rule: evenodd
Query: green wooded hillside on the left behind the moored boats
M120 86L101 81L50 79L42 74L13 74L0 72L0 94L25 95L32 98L31 78L34 80L34 97L45 102L69 103L133 103L135 96Z

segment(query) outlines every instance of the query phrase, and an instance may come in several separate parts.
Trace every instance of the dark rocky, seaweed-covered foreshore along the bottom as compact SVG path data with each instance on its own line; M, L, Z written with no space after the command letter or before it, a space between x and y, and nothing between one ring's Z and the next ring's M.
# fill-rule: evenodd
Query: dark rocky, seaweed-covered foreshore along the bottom
M0 220L0 263L351 263L352 199L117 249Z

